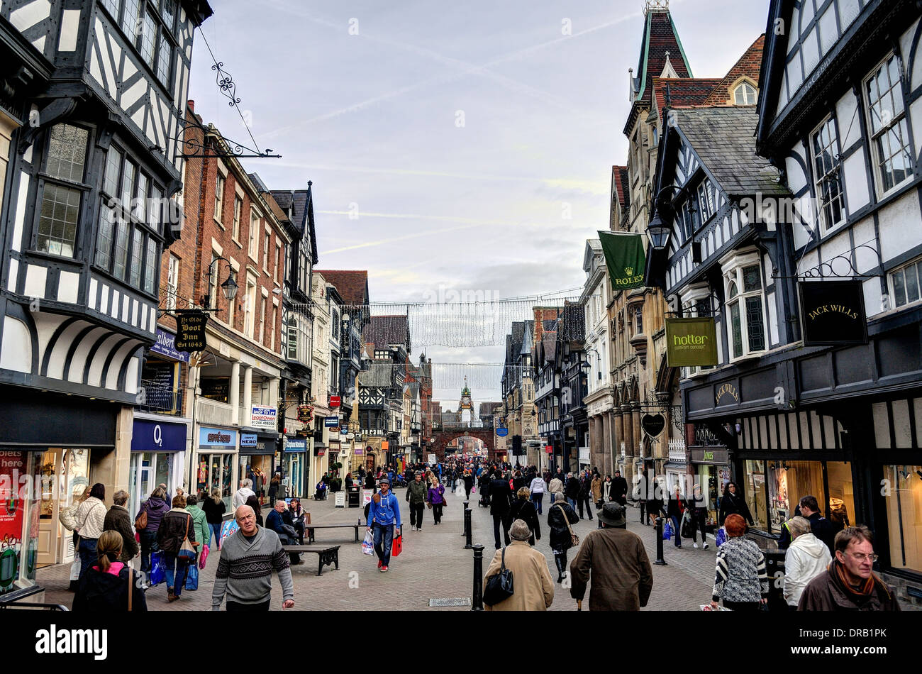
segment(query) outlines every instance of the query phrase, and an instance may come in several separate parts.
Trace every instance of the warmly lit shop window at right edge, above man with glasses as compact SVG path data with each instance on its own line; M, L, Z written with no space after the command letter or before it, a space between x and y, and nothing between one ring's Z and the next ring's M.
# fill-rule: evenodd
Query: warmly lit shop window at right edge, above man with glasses
M922 573L922 466L884 466L890 566Z

